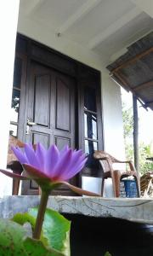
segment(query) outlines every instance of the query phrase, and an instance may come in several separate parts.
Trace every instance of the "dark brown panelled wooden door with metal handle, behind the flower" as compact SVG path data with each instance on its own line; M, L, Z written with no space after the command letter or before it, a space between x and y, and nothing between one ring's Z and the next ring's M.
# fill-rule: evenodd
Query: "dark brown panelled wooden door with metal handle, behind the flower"
M75 81L52 68L31 62L26 86L26 143L55 143L75 148ZM32 124L33 123L33 124ZM75 184L75 180L71 180ZM37 195L37 184L24 182L22 194ZM62 187L56 194L69 195Z

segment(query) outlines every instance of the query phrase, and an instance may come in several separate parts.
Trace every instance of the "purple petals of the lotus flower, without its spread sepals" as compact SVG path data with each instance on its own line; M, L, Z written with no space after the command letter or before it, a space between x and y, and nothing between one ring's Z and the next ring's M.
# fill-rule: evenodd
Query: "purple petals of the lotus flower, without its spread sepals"
M45 177L51 182L69 180L82 170L87 160L82 150L72 150L68 146L59 151L55 145L52 145L46 150L37 143L36 150L31 144L25 144L24 149L23 151L19 147L12 147L15 156L26 167L26 171L31 169L28 172L30 176Z

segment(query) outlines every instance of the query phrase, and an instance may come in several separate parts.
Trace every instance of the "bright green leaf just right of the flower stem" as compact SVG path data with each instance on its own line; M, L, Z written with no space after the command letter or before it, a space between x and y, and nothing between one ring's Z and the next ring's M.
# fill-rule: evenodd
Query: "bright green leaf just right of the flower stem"
M37 208L32 208L30 214L37 217ZM71 222L59 212L47 209L43 221L43 236L48 238L48 245L70 256L70 229Z

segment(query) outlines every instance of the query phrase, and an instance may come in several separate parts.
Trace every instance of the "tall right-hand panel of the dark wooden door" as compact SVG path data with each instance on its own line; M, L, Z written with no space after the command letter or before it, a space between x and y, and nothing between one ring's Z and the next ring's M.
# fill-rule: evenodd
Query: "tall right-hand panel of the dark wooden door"
M59 73L54 75L54 143L59 148L65 144L75 148L74 81Z

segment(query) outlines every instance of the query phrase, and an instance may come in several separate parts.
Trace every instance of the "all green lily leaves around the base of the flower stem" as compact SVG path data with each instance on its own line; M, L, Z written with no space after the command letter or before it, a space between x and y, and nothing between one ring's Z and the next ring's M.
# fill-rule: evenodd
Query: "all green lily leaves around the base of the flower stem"
M47 209L40 240L27 237L23 224L30 223L34 230L37 208L29 213L17 213L12 220L0 219L1 256L70 256L71 222L59 212Z

